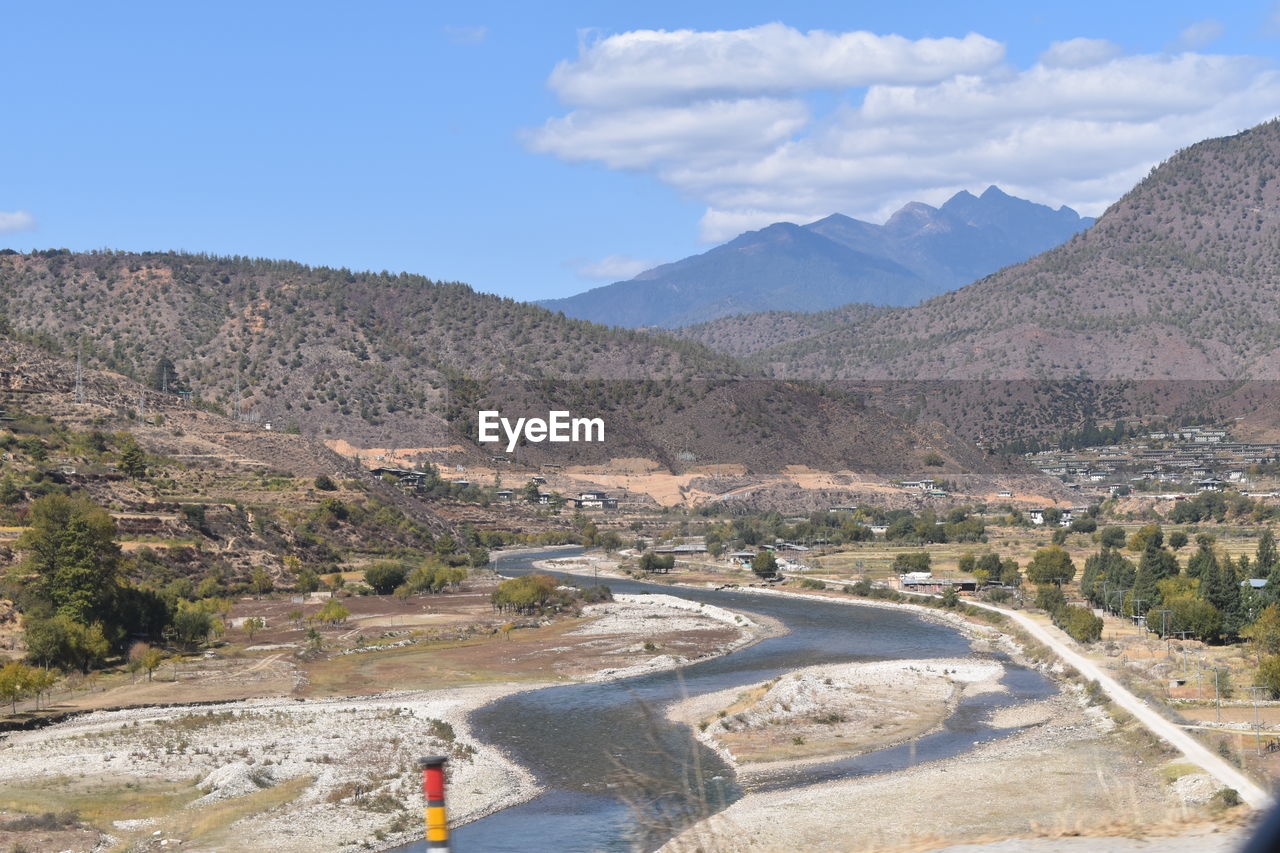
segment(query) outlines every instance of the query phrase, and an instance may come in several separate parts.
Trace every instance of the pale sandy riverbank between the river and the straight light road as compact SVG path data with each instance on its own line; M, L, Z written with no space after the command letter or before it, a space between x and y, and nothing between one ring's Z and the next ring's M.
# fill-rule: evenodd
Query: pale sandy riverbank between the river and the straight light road
M1001 651L1068 674L1057 657L1028 660L1014 637L950 611L778 589L742 592L909 611L960 629L975 651ZM992 839L1179 834L1215 826L1210 821L1229 827L1244 818L1240 809L1222 815L1210 797L1187 797L1189 785L1169 784L1176 775L1166 765L1170 753L1143 736L1137 724L1117 726L1078 684L1062 681L1062 688L1048 699L993 711L989 724L1015 729L1009 736L908 770L753 790L769 775L745 765L739 776L745 797L662 849L927 850L960 841L980 849ZM687 717L687 710L676 712ZM850 803L858 803L854 821L847 820Z

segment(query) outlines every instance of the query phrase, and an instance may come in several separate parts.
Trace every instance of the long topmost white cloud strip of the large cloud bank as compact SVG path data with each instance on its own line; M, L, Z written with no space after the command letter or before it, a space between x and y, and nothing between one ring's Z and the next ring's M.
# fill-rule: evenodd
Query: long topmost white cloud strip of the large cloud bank
M1004 46L964 38L800 32L781 23L714 32L636 29L584 44L550 87L576 106L786 93L872 83L927 83L998 63Z

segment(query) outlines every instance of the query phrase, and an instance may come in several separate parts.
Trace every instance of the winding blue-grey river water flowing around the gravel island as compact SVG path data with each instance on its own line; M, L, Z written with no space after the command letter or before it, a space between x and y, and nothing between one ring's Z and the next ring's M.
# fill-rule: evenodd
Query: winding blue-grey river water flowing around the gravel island
M509 576L529 571L535 560L575 553L559 548L506 557L500 571ZM575 579L594 583L591 578ZM663 719L664 706L685 695L756 684L818 663L973 654L956 629L924 621L909 611L613 578L607 583L618 593L666 593L771 616L788 633L676 671L517 693L475 711L471 715L475 736L502 747L532 771L545 793L453 830L454 850L654 849L678 827L719 811L742 794L732 768L698 743L687 726ZM1034 670L1000 654L992 657L1005 666L1006 692L964 699L942 730L899 747L808 765L754 789L900 770L956 756L1009 734L1010 730L987 724L991 711L1044 698L1055 688ZM422 843L396 848L397 853L421 850L425 850Z

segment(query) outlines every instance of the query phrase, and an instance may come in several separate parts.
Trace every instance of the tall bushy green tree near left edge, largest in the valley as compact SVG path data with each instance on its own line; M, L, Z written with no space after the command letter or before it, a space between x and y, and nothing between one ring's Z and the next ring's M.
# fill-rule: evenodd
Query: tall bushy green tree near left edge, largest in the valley
M88 625L119 624L120 547L115 521L81 497L49 494L32 502L31 525L18 538L29 592L58 613Z

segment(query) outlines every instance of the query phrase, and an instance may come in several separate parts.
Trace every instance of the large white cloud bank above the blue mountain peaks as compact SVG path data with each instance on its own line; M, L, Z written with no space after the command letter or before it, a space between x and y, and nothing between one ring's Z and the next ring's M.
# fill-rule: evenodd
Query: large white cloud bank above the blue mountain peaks
M701 236L722 241L991 183L1097 214L1176 149L1280 113L1280 73L1257 58L1124 55L1098 38L1055 42L1028 68L1002 55L982 36L623 33L556 68L571 109L526 143L653 174L704 202ZM810 106L832 88L835 109Z

